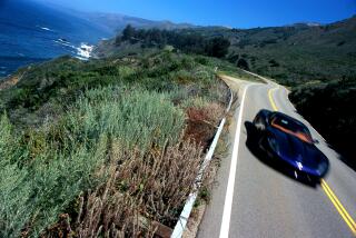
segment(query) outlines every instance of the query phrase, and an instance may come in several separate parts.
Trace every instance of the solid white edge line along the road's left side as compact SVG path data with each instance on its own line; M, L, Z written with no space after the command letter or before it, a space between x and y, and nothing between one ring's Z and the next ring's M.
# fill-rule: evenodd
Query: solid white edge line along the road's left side
M247 85L244 89L243 100L240 103L240 110L239 110L238 120L237 120L237 128L236 128L235 142L234 142L234 149L233 149L233 156L231 156L231 163L230 163L230 172L229 172L229 178L228 178L228 184L226 189L219 238L227 238L229 235L235 177L236 177L236 169L237 169L236 167L237 167L238 147L240 142L243 112L244 112L245 98L246 98L246 92L248 87L249 85Z

